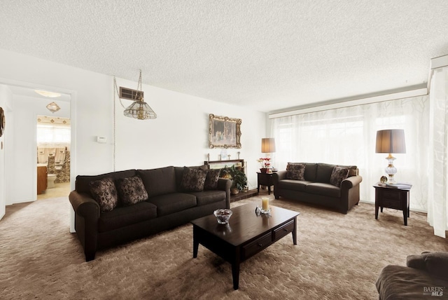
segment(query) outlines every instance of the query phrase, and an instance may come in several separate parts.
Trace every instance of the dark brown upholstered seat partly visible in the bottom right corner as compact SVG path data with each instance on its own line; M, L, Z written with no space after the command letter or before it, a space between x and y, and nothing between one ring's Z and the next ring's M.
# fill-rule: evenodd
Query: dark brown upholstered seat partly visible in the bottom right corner
M448 299L448 253L409 255L406 266L385 266L376 286L380 300Z

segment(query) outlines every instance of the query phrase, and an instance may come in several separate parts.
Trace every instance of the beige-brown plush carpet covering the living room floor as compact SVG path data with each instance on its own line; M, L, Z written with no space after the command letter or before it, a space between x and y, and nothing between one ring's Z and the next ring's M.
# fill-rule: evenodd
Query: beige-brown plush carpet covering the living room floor
M273 198L272 195L270 198ZM248 198L241 205L260 198ZM407 254L448 251L426 215L374 206L340 214L286 200L301 212L297 245L286 236L241 264L239 290L230 264L200 246L193 259L192 226L97 253L88 263L69 233L67 198L13 205L0 221L1 299L378 299L374 282ZM232 219L230 219L232 221Z

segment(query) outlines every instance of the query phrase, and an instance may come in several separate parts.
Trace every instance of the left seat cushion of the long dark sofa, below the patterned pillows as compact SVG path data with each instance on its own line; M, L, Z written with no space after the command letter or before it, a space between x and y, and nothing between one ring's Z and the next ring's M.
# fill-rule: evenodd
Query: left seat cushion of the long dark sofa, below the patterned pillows
M111 231L155 217L157 217L157 207L146 201L130 206L117 207L115 210L99 216L98 231Z

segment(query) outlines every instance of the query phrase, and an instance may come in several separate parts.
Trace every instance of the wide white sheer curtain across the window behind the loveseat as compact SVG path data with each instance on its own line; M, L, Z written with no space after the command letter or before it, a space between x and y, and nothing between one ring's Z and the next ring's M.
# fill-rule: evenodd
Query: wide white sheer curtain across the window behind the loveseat
M406 154L394 154L395 179L413 184L410 206L427 210L428 96L274 118L274 167L288 162L357 165L363 182L360 200L374 203L373 184L385 175L387 154L375 153L377 130L404 129Z

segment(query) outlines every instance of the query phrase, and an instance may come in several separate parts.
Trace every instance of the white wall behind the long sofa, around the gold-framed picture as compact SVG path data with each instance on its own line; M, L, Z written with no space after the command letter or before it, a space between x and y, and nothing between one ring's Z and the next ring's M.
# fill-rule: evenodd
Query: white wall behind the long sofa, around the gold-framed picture
M136 69L136 80L138 72ZM137 82L117 81L118 86L137 88ZM0 83L23 83L71 94L72 187L76 175L113 171L113 76L0 50ZM215 114L242 119L242 148L228 149L228 153L236 158L237 151L241 151L241 158L248 163L249 183L256 185L256 159L261 155L261 138L265 137L264 113L148 85L143 90L146 102L158 118L148 121L127 118L116 101L116 170L199 165L208 153L212 160L217 159L221 149L208 148L209 114ZM125 106L130 103L123 100ZM22 134L21 129L14 132L15 138ZM108 142L97 143L97 136L106 137ZM20 171L12 168L8 176L17 177L16 172ZM22 201L24 197L25 193L17 200Z

